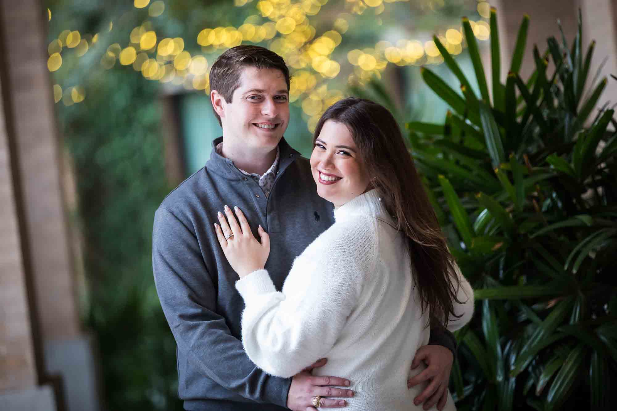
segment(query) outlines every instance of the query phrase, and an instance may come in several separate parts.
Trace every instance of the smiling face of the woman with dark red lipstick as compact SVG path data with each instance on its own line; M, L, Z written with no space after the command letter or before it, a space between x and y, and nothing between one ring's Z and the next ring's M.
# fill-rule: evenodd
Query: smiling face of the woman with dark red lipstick
M335 207L364 193L370 183L360 152L346 125L327 120L310 156L317 194Z

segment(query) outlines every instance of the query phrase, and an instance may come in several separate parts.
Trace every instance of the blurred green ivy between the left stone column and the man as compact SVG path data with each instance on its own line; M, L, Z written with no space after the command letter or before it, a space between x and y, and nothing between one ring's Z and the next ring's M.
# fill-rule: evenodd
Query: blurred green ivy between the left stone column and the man
M88 275L86 326L96 334L109 409L182 409L175 341L152 281L152 219L169 191L157 87L110 70L96 98L59 110L77 174Z

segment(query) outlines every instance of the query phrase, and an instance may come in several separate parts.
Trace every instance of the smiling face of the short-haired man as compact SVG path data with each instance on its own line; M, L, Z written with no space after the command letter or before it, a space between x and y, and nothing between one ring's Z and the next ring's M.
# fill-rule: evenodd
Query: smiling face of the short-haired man
M274 149L289 124L289 91L275 68L245 67L231 103L220 114L223 138L245 149Z

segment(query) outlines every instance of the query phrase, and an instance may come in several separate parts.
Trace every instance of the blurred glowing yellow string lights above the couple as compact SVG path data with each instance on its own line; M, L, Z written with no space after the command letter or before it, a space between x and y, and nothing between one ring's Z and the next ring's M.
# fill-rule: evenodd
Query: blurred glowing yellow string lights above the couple
M152 23L145 20L131 30L125 46L114 43L102 52L100 64L104 70L117 64L132 67L149 80L209 93L208 70L221 52L239 44L262 44L280 54L291 68L290 101L297 101L302 107L309 130L313 131L321 114L344 97L344 92L335 85L365 85L373 77L381 78L388 65L436 65L444 61L432 40L399 39L395 43L380 40L370 48L340 50L355 16L372 13L376 24L381 25L380 16L389 3L406 1L410 0L345 0L344 9L334 16L331 27L318 33L313 20L328 0L234 0L234 6L252 7L254 13L239 27L205 27L196 39L186 40L189 44L196 41L201 53L192 47L193 54L185 50L183 38L161 38ZM444 6L444 0L412 1L427 10ZM134 0L134 6L136 12L147 10L149 18L159 17L165 12L165 2L161 0ZM490 17L490 6L484 0L478 0L477 10L480 18L477 21L470 19L471 27L476 38L487 40L490 27L483 19ZM51 20L49 9L48 18ZM113 27L113 22L109 22L109 31ZM82 35L77 30L60 32L48 46L49 70L54 72L62 67L64 53L75 52L77 56L84 56L104 34ZM447 28L436 35L450 54L460 54L466 47L460 26ZM346 79L341 76L346 76ZM83 101L85 95L80 86L63 92L59 85L54 85L56 102L72 105Z

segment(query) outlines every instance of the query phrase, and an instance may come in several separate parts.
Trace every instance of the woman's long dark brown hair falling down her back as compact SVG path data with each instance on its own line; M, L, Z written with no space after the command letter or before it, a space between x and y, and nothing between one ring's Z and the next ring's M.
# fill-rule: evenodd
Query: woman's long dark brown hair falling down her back
M371 184L379 190L387 212L407 236L407 250L422 311L444 327L454 312L460 285L437 216L392 114L376 102L346 98L330 106L315 128L315 139L328 120L349 128ZM452 317L450 317L452 316Z

